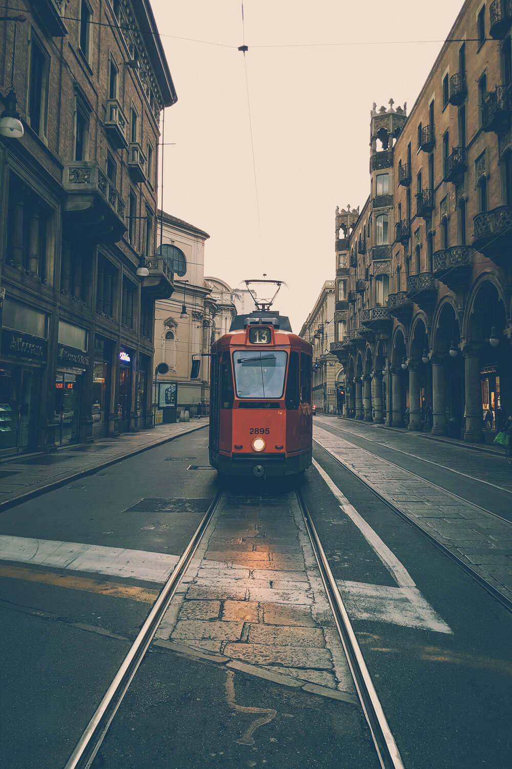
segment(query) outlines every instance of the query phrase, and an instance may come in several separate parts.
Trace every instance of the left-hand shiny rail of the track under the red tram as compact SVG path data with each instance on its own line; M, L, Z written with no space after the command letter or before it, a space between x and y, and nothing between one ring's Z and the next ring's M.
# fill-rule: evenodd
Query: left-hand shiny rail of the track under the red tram
M91 721L89 721L88 726L85 728L85 731L74 748L74 751L71 753L71 756L68 758L64 769L88 769L94 761L94 757L107 734L111 721L117 712L117 708L120 706L124 694L126 694L151 641L153 641L158 625L164 617L167 608L169 608L170 601L172 601L173 596L177 591L183 574L187 571L187 567L203 538L206 527L210 523L221 497L222 491L219 491L204 514L203 519L193 534L193 538L187 545L186 550L177 562L173 573L170 575L170 578L167 580L164 588L162 588L160 595L154 602L153 608L151 608L142 628L140 628L139 634L137 634L137 638L130 647L130 651L128 651L114 680L108 687L100 704L97 706L97 710L91 718Z

